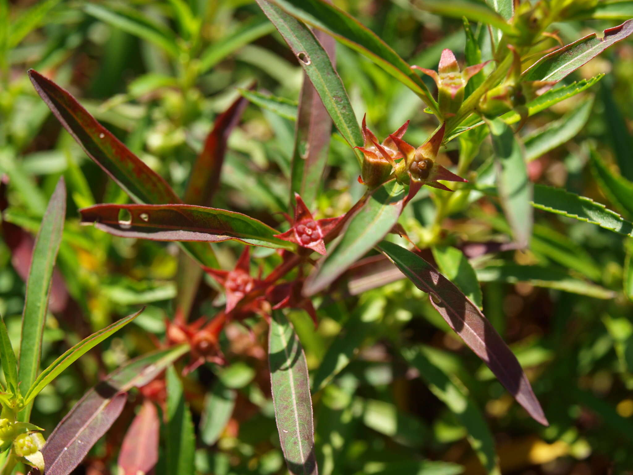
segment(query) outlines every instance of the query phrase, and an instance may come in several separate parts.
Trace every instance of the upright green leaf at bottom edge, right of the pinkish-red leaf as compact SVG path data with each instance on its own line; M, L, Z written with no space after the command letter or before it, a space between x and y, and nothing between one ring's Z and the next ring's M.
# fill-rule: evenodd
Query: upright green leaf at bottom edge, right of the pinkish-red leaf
M166 474L193 475L196 434L189 405L185 402L182 381L173 365L167 368Z

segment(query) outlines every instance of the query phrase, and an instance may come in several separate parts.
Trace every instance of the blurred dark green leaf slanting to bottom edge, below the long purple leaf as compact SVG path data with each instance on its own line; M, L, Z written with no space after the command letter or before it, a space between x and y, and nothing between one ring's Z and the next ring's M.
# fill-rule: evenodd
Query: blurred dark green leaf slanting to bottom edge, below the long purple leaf
M401 353L407 362L420 372L430 391L453 412L467 430L468 442L479 461L491 475L501 474L499 460L494 450L494 438L477 403L468 390L454 375L442 371L425 352L424 346L403 348Z

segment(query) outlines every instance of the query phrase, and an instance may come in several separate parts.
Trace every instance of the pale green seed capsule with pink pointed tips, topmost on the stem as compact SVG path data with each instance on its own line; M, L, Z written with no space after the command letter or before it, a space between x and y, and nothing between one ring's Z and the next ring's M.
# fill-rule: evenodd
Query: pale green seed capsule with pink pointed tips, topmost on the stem
M468 80L479 73L489 62L468 66L462 71L453 51L444 49L439 60L439 66L437 66L437 72L420 68L420 66L411 67L429 75L436 82L437 105L442 117L448 118L455 115L460 109Z

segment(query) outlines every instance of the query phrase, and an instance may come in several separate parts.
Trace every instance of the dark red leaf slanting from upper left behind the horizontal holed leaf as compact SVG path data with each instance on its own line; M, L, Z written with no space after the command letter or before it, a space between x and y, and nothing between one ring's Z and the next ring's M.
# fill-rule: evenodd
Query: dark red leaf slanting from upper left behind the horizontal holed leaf
M104 172L137 203L182 203L165 179L147 167L111 132L99 124L77 99L40 73L29 70L35 91L51 109L61 125ZM218 261L208 244L183 243L181 246L208 267Z

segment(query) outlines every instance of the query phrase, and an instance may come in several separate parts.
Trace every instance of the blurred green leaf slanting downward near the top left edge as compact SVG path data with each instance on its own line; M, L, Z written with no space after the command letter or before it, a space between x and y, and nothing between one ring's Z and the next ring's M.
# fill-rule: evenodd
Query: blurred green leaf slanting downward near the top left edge
M176 35L136 9L87 3L84 5L84 11L104 23L155 44L172 58L179 55Z

